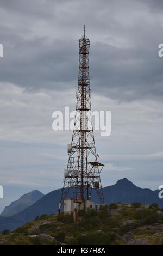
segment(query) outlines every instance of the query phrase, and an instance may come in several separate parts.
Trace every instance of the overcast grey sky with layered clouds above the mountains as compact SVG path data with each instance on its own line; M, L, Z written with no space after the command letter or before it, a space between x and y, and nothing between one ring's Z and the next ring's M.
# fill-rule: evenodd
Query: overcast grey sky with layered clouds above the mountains
M33 189L62 187L72 132L53 131L52 113L76 107L84 23L92 111L111 111L111 136L95 131L102 184L163 184L163 1L1 0L0 211Z

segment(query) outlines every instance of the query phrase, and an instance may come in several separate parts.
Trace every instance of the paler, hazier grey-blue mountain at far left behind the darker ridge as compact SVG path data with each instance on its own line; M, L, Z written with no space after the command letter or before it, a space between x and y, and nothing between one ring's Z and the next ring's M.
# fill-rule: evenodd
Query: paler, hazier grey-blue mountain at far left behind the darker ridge
M21 196L18 200L12 202L9 206L6 206L1 212L0 216L9 217L14 214L18 214L18 212L28 208L43 196L44 194L39 190L33 190L29 193L23 194L23 196Z

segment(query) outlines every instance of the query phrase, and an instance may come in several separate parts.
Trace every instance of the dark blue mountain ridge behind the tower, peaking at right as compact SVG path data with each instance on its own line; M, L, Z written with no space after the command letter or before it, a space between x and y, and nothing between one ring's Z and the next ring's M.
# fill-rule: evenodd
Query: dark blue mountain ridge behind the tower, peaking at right
M24 223L34 220L37 215L55 214L60 202L61 191L59 189L49 192L18 214L10 217L0 216L0 231L3 229L14 230ZM141 202L158 203L160 208L163 206L163 199L158 197L159 190L152 191L148 188L137 187L127 178L118 180L115 185L104 187L103 193L106 204ZM72 197L72 194L69 197ZM92 192L91 200L99 202L95 191Z

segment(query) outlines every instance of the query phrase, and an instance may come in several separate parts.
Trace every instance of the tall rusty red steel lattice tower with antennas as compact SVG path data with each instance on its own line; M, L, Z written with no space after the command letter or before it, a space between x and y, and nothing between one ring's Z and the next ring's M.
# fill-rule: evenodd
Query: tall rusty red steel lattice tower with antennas
M90 75L89 75L90 40L84 35L79 39L79 75L77 89L76 115L72 142L69 145L68 164L65 169L64 186L60 205L70 189L73 190L75 203L91 198L95 188L101 203L104 203L100 173L104 164L97 161L95 139L92 127Z

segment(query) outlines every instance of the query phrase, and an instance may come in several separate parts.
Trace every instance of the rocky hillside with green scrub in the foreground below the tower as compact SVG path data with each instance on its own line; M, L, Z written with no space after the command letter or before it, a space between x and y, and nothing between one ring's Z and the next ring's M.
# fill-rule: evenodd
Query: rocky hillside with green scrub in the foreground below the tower
M110 204L100 211L42 215L8 234L0 245L163 245L163 212L148 205Z

